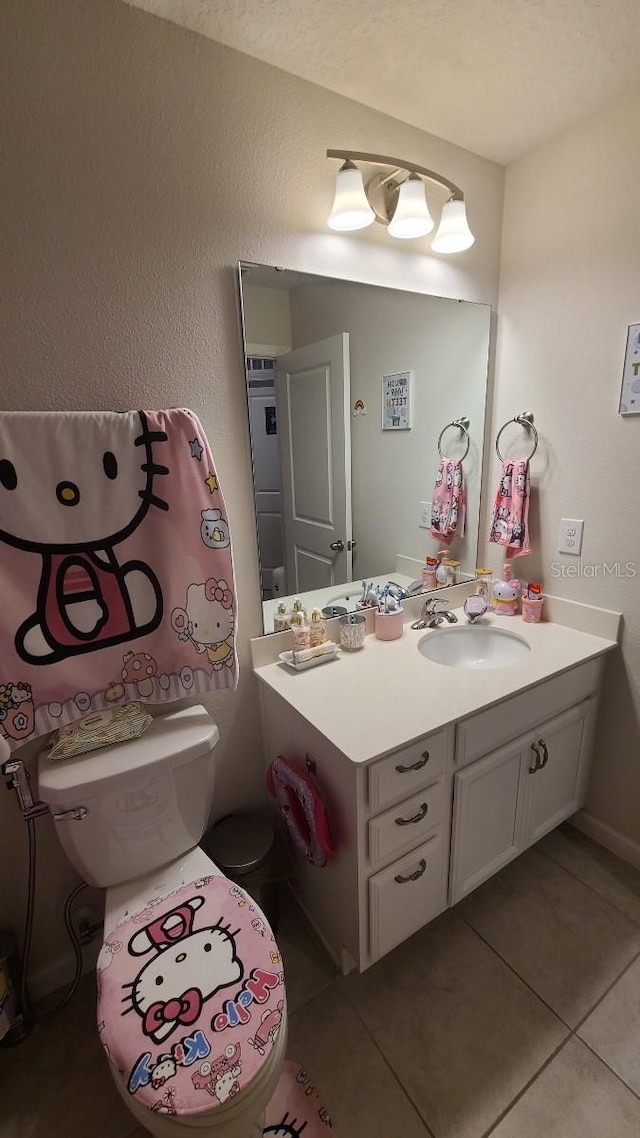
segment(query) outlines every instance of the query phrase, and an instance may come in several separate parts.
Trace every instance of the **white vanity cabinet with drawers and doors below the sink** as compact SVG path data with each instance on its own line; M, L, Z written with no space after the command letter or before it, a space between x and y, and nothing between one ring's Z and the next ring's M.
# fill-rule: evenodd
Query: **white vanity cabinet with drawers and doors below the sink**
M325 699L342 665L330 667ZM292 885L343 968L369 967L580 809L600 673L596 657L491 706L476 700L473 714L381 756L366 696L353 711L362 732L350 728L340 748L322 731L326 704L304 702L306 676L293 677L298 708L281 674L260 684L268 761L306 761L327 806L335 855L323 868L298 858Z

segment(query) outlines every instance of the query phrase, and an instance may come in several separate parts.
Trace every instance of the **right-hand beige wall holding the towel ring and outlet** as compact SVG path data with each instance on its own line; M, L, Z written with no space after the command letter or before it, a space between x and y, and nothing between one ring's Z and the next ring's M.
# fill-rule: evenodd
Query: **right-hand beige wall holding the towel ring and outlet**
M494 427L527 407L541 431L536 552L524 572L625 617L588 810L637 843L640 418L621 419L617 406L626 327L640 321L639 131L637 94L508 168L494 396ZM492 486L495 475L494 461ZM581 578L552 576L553 562L576 566L557 553L563 517L584 519ZM605 562L632 562L635 576L605 576Z

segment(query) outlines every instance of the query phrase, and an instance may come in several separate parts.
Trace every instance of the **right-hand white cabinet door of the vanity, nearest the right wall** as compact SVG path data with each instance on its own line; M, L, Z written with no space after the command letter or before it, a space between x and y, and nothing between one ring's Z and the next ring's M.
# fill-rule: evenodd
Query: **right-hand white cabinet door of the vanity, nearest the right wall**
M540 759L527 775L527 846L583 806L594 712L596 700L586 700L534 733Z

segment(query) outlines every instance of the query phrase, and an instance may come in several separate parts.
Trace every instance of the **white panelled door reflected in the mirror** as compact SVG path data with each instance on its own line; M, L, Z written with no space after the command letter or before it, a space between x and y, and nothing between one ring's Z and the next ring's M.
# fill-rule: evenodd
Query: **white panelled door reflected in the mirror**
M279 356L276 391L287 592L304 593L351 580L348 333Z

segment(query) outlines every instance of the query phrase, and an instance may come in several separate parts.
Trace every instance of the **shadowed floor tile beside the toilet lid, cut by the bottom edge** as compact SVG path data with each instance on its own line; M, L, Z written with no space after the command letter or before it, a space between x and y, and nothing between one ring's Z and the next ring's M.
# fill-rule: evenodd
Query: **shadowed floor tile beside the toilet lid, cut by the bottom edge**
M428 1138L346 1000L345 986L334 984L292 1017L289 1058L311 1077L338 1138Z

